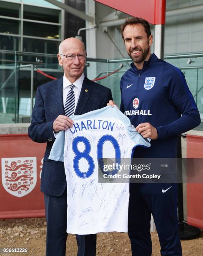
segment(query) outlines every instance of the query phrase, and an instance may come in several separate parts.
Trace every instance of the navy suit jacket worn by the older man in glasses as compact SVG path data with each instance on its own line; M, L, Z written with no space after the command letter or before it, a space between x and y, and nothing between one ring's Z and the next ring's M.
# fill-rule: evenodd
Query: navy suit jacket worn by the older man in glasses
M112 100L111 90L85 77L75 109L75 115L103 108ZM55 137L53 122L58 115L65 115L63 108L63 77L40 85L36 92L35 105L29 137L39 143L47 143L41 175L41 191L47 195L60 196L66 187L64 163L48 159Z

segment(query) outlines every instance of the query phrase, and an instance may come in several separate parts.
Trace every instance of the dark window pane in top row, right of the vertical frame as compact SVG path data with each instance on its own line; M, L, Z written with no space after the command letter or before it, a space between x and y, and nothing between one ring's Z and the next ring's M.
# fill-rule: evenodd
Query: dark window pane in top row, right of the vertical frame
M59 23L60 10L24 5L23 18Z

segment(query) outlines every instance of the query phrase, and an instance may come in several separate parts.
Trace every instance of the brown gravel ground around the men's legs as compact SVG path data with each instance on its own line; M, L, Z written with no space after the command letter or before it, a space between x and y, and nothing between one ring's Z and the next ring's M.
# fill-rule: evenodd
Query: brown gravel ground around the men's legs
M0 220L0 247L25 248L29 253L7 253L4 255L43 256L45 255L45 218ZM156 232L151 233L153 256L160 255L160 246ZM97 236L97 254L101 256L130 256L130 241L126 233L99 233ZM183 256L203 256L203 232L199 238L181 241ZM66 255L76 256L75 235L68 235Z

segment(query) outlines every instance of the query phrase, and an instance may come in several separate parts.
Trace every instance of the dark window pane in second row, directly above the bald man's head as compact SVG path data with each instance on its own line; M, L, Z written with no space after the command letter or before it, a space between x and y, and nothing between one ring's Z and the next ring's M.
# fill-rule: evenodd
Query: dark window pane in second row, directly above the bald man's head
M58 39L59 26L23 22L23 34L25 36L39 36L46 38L57 38Z

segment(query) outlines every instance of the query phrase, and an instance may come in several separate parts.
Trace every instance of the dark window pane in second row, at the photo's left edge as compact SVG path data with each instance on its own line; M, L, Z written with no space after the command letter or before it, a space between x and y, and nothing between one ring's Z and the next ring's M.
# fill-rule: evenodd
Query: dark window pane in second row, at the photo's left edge
M0 18L0 33L18 34L19 21Z

